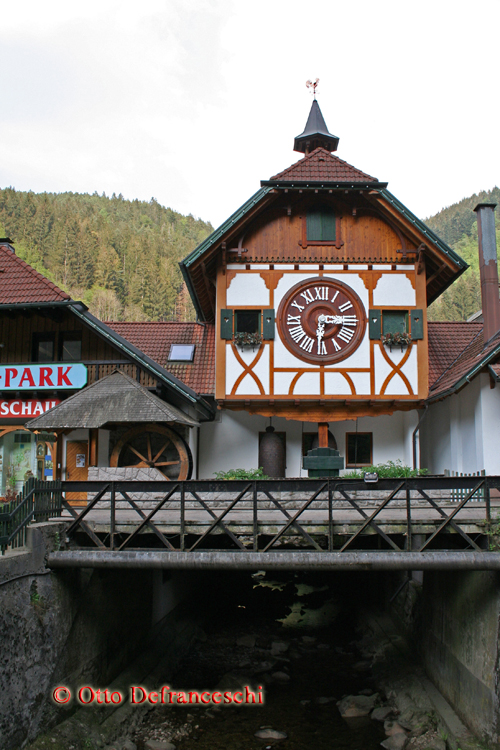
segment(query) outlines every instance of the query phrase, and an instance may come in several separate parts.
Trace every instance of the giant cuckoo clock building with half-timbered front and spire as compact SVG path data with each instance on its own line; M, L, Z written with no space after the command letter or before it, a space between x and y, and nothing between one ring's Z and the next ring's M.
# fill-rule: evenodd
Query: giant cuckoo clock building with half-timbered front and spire
M294 141L301 158L181 264L215 327L203 475L266 468L270 428L280 475L307 476L318 443L344 468L412 463L429 395L426 309L467 265L338 143L314 100Z

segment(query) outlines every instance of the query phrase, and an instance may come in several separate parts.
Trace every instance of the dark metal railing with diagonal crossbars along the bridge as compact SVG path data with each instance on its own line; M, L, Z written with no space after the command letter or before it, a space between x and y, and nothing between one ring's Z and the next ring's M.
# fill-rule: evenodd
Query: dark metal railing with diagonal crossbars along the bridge
M68 502L68 493L86 493L86 507ZM372 534L382 548L403 552L416 550L418 534L419 551L435 547L438 536L442 549L453 535L454 549L460 537L462 548L481 552L478 536L491 525L492 505L500 511L498 476L384 479L376 485L342 477L63 481L34 494L35 516L64 514L67 536L76 541L78 534L80 545L86 537L100 550L140 549L148 533L160 548L186 553L220 549L221 536L240 552L267 552L290 537L302 549L344 552Z

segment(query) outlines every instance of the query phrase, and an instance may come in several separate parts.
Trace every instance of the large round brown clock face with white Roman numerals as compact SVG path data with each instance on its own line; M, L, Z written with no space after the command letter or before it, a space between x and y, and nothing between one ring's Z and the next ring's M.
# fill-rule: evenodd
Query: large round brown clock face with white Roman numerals
M299 359L332 364L349 357L363 340L363 303L347 284L324 277L301 281L278 309L278 331Z

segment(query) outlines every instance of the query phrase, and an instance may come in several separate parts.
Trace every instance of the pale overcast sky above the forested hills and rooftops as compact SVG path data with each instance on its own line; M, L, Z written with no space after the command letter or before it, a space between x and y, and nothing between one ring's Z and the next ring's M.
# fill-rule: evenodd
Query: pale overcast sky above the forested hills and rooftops
M340 158L425 218L500 182L500 0L2 3L0 187L113 192L220 224L300 158Z

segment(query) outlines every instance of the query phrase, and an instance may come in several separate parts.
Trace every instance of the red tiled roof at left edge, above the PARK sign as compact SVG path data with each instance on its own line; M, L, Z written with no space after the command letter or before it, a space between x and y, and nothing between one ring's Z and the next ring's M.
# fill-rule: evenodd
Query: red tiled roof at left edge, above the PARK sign
M0 245L1 305L63 302L69 299L69 294L18 258L9 245Z

